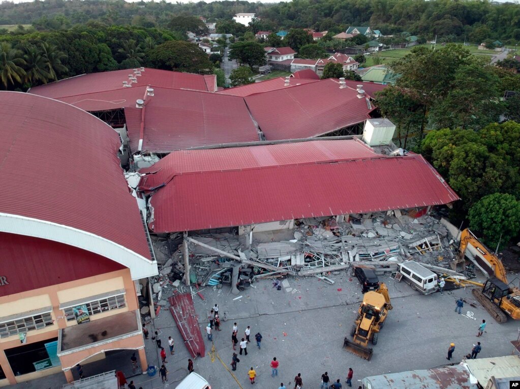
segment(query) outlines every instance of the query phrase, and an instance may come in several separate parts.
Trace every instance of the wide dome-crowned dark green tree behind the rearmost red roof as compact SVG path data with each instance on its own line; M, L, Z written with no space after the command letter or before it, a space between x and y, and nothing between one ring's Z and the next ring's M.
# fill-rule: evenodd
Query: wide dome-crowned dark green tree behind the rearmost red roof
M213 70L208 55L197 45L184 40L168 40L148 52L152 67L178 72L208 74Z

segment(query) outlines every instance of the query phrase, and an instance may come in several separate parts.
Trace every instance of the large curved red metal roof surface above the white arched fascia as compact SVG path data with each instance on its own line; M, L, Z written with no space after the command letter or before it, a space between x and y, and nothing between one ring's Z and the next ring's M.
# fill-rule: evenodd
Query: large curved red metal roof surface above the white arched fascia
M119 135L81 109L0 92L0 212L73 227L150 259L117 157ZM122 227L124 226L124 228Z

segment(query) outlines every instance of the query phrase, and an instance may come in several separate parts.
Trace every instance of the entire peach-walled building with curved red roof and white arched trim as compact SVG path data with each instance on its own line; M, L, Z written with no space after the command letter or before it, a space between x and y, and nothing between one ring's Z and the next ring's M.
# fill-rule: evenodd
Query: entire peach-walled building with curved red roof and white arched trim
M61 372L72 382L76 364L122 349L146 371L137 294L157 261L118 133L30 93L0 92L0 116L0 386Z

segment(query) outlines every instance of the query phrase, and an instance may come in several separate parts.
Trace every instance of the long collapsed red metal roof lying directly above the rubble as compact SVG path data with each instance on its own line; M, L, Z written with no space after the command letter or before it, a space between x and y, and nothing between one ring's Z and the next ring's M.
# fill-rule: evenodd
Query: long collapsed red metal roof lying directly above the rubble
M157 183L162 176L165 185L151 197L149 225L158 233L211 229L459 199L421 156L375 155L356 142L176 151L152 167L159 170L152 180ZM353 158L348 158L350 147ZM321 152L321 158L313 161L308 152ZM216 161L229 164L222 169L224 162L214 166ZM152 184L150 178L141 182L143 189Z

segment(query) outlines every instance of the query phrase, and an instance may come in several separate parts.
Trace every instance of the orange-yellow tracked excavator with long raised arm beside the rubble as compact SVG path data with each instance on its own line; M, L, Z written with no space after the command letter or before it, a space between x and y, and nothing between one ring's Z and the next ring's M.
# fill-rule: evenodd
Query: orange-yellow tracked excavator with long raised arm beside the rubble
M520 319L520 289L509 286L502 261L493 254L468 229L462 231L460 238L460 260L464 260L467 247L475 248L475 261L489 277L482 289L474 288L473 296L498 323L505 323L508 315L515 320Z

